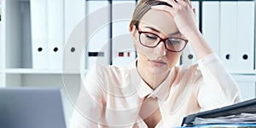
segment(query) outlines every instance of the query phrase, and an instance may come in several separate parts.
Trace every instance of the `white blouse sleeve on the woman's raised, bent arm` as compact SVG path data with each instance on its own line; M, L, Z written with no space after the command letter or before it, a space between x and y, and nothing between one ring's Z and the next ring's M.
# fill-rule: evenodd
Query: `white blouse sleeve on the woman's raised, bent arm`
M241 102L241 94L236 81L224 68L218 55L207 55L198 61L202 74L198 103L201 110L224 107Z

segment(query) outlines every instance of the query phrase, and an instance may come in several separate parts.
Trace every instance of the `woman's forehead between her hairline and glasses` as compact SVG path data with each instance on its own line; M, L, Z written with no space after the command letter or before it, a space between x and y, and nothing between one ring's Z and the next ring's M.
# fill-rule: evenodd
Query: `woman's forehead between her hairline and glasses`
M164 11L149 9L140 20L140 26L151 26L164 34L177 32L172 16Z

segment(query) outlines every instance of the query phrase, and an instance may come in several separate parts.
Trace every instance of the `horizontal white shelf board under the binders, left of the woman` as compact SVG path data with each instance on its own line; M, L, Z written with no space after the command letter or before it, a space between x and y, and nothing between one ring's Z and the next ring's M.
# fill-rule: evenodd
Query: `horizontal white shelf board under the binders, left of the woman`
M7 68L3 70L3 73L20 73L20 74L80 74L80 72L72 72L62 70L50 70L50 69L32 69L32 68ZM88 73L88 70L84 70L82 73Z

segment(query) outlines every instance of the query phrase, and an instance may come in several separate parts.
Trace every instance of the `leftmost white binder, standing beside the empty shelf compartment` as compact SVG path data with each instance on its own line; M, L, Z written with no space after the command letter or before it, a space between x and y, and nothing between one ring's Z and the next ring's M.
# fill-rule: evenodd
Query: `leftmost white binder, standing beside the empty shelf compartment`
M47 1L32 0L32 68L46 69L49 67Z

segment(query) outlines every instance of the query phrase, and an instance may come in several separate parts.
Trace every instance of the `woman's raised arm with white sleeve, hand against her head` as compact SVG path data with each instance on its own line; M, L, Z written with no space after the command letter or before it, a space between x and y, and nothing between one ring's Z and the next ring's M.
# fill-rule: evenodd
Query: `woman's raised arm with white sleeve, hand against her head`
M172 16L177 28L195 51L202 79L198 102L202 109L222 107L234 102L240 102L241 96L234 79L226 71L218 56L212 53L201 32L197 29L195 10L189 0L161 0L172 5L154 6Z

